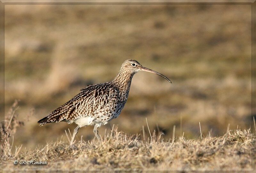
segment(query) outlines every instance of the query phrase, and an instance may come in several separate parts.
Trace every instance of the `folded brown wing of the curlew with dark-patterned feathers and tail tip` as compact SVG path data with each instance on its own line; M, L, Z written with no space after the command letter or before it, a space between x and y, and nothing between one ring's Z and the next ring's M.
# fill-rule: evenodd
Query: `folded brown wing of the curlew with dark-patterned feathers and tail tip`
M117 100L118 92L117 88L109 84L90 85L38 123L43 125L97 115L109 102Z

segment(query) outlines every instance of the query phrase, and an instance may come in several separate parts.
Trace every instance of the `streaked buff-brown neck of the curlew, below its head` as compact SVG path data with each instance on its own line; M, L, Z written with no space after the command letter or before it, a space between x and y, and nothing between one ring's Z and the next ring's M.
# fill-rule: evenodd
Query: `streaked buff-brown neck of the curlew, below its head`
M128 96L133 75L134 74L121 69L112 83L114 83L121 92L127 93Z

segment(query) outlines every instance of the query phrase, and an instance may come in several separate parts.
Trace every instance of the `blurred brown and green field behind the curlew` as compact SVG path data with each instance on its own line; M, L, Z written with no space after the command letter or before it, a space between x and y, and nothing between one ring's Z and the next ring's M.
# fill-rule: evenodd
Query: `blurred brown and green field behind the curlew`
M142 133L146 118L164 139L248 129L251 114L250 5L5 5L5 113L19 99L25 121L14 145L56 141L75 124L37 121L85 85L111 81L126 59L169 79L133 77L121 115L110 122ZM31 109L34 114L28 118ZM109 125L99 130L104 134ZM94 138L93 127L78 138ZM77 138L77 140L78 140Z

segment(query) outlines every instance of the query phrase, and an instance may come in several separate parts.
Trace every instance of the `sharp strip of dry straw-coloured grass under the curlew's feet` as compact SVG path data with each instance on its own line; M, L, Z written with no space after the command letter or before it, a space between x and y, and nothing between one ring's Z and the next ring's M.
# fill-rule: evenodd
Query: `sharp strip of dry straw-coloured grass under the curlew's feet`
M126 136L115 129L105 133L102 144L81 140L69 148L61 138L2 161L5 170L251 170L256 159L256 136L250 130L229 130L202 140L178 137L173 143L162 137L141 141L140 135ZM33 159L48 164L13 164Z

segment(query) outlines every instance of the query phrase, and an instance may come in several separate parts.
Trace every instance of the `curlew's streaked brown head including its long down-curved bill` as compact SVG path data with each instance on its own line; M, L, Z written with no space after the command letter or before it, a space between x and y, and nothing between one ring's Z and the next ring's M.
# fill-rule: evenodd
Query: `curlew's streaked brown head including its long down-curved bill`
M124 61L124 63L121 66L120 71L125 71L126 73L130 73L132 75L134 75L135 73L137 73L139 71L146 71L146 72L150 72L150 73L155 73L156 75L162 76L164 79L166 79L167 81L172 83L167 77L165 77L161 73L158 73L154 70L150 70L146 67L143 67L142 65L140 65L140 63L138 61L133 60L133 59L128 59L128 60Z

